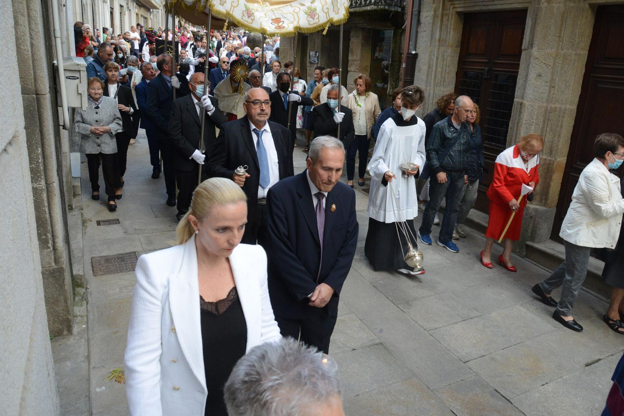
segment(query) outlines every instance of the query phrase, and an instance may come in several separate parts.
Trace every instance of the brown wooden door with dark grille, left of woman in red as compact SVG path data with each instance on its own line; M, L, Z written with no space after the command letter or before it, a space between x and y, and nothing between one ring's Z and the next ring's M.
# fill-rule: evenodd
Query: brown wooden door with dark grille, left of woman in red
M507 146L509 119L514 106L515 85L522 56L526 10L467 13L455 92L479 104L485 167L475 207L487 212L487 187L492 182L494 161Z

